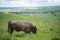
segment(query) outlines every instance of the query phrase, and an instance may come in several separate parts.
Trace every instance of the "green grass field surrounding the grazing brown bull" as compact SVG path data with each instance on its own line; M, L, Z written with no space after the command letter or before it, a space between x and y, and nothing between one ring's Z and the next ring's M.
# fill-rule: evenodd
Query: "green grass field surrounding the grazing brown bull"
M14 31L8 36L8 21L29 21L37 26L37 34ZM60 40L60 16L52 14L0 14L0 40Z

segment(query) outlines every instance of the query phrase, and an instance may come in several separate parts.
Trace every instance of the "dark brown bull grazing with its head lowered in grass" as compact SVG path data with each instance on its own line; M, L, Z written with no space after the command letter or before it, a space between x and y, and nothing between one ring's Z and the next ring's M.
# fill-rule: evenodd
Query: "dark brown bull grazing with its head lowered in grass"
M24 31L25 33L36 33L36 26L32 25L30 22L19 22L19 21L9 21L8 22L8 32L12 35L13 31Z

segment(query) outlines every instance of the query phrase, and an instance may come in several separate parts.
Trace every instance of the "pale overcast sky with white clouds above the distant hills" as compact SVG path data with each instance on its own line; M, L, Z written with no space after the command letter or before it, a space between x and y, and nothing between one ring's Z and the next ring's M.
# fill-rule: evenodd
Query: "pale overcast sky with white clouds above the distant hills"
M60 0L0 0L0 7L60 6Z

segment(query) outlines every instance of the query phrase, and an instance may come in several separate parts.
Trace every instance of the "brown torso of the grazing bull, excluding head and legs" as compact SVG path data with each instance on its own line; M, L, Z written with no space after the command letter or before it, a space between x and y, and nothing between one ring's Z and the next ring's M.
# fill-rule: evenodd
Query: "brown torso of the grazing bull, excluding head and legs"
M20 22L20 21L10 21L9 27L13 28L15 30L24 30L24 29L30 29L32 26L29 22Z

